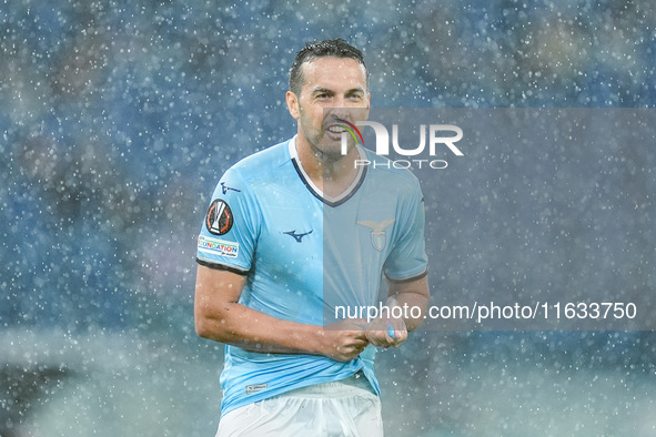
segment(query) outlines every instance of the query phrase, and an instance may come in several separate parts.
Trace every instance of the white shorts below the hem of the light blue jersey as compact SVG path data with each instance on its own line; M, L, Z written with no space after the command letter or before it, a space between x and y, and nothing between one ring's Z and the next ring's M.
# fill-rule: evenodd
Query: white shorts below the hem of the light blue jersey
M382 437L381 400L364 376L299 388L226 413L216 437Z

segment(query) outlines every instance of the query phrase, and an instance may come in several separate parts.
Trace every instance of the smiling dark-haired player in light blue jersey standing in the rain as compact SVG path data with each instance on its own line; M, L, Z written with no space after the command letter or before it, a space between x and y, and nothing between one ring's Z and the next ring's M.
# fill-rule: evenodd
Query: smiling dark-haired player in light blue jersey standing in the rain
M403 343L428 299L418 181L352 139L342 151L370 109L344 40L296 54L286 103L296 135L223 175L199 236L196 332L226 344L216 435L380 436L375 347ZM375 305L382 274L387 305L418 316L324 326L339 305Z

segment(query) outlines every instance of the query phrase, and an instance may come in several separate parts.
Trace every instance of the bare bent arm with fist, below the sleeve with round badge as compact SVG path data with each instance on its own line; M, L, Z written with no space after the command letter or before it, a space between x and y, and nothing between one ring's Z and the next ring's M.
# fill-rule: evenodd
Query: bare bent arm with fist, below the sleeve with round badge
M245 350L354 359L369 344L357 321L339 329L283 321L239 304L245 276L199 265L194 297L196 333Z

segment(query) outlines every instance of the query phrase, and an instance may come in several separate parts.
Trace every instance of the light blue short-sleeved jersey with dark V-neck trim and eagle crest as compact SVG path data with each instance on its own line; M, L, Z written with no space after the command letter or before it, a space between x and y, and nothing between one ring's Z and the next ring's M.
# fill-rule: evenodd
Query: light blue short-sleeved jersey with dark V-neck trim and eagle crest
M251 155L216 185L198 262L248 277L240 303L273 317L323 325L336 305L376 305L382 273L410 281L426 273L424 207L407 170L360 167L340 197L304 174L294 139ZM365 155L366 154L366 155ZM323 356L262 354L228 345L222 415L241 406L362 370L375 393L375 348L340 363Z

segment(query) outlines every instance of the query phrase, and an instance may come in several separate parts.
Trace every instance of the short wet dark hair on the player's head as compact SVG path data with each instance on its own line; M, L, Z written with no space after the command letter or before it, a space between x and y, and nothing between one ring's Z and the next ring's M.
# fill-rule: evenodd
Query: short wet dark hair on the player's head
M342 38L327 39L322 41L305 42L305 47L296 53L294 62L290 68L290 91L296 95L301 95L301 88L303 88L303 72L301 67L304 62L314 61L317 58L350 58L354 59L365 71L366 85L369 88L369 70L364 63L362 52L349 44Z

